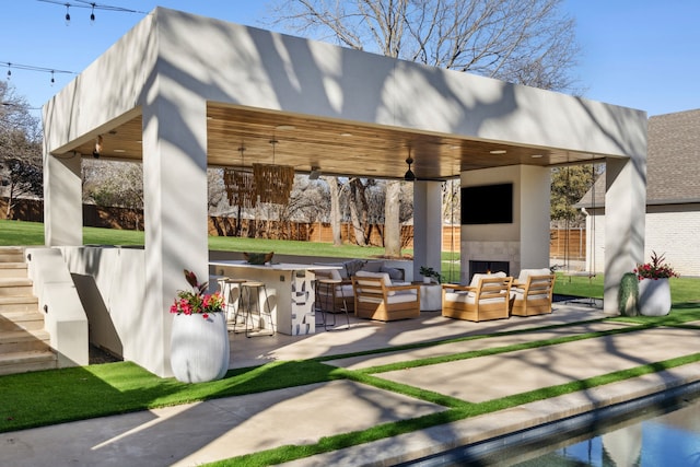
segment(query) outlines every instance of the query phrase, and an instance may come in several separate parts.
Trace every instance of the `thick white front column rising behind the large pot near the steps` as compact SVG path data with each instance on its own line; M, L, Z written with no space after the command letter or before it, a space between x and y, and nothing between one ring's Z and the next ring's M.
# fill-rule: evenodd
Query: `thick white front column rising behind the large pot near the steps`
M136 360L170 376L170 306L187 289L184 269L209 280L207 234L207 105L177 84L161 84L143 107L145 300L135 337Z

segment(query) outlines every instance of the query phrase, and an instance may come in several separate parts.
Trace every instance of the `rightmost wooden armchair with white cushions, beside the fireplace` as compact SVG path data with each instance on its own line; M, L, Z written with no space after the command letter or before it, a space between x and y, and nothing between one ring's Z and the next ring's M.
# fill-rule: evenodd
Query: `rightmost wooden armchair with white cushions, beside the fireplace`
M511 315L534 316L551 313L556 278L548 268L523 269L513 282Z

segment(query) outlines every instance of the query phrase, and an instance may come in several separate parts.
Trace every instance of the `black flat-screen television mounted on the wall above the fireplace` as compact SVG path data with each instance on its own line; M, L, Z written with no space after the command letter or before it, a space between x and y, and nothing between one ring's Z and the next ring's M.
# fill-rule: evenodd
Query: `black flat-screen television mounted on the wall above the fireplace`
M513 223L513 184L462 188L462 224Z

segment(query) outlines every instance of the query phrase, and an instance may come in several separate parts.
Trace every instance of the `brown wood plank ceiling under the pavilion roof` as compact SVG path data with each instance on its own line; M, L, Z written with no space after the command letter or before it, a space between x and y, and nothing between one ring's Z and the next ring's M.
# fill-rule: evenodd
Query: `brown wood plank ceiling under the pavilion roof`
M415 161L412 171L419 179L446 179L476 168L516 164L552 166L602 159L590 153L477 141L222 104L209 104L207 119L210 166L249 167L253 163L273 163L292 165L298 173L318 167L323 175L402 178L410 153ZM140 161L141 127L138 116L102 133L101 159ZM90 140L71 151L91 157L94 148L95 140ZM241 151L241 148L245 149Z

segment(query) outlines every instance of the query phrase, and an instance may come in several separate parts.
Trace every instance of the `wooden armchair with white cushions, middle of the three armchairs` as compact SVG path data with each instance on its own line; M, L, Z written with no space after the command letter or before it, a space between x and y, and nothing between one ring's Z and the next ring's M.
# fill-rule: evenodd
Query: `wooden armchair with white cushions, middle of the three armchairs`
M443 284L442 315L483 322L510 316L512 277L504 272L474 275L476 285Z

